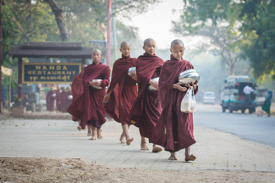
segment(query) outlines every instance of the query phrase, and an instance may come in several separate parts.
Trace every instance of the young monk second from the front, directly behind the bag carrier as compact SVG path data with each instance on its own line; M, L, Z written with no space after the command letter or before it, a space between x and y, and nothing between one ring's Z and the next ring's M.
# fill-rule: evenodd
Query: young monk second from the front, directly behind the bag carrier
M161 104L158 99L158 91L149 92L145 88L147 84L151 84L158 90L158 81L152 79L159 77L164 61L155 54L156 43L154 40L146 39L143 49L145 53L139 56L136 61L138 96L132 105L129 119L132 124L139 128L141 150L149 150L145 138L149 138L149 143L151 143L151 135L161 114ZM162 148L153 144L152 152L160 151Z

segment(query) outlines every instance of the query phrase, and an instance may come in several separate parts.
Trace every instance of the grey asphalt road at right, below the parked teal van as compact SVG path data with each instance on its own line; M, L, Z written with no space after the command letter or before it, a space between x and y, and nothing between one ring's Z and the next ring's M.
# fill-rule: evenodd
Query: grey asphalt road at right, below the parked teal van
M231 133L275 148L275 118L255 114L224 113L217 106L198 105L194 125Z

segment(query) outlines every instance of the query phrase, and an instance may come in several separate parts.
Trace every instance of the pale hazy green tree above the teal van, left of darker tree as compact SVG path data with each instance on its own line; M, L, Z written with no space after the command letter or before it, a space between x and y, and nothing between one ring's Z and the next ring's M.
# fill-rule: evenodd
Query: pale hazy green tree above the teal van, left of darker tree
M173 22L173 31L183 36L200 35L210 39L200 50L220 54L229 74L234 75L236 62L243 58L241 45L247 40L240 34L240 3L231 0L184 0L179 22Z

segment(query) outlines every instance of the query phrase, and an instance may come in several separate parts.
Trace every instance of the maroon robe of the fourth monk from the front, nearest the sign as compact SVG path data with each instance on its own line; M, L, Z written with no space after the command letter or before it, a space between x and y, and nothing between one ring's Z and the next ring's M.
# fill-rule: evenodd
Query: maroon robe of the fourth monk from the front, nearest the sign
M88 120L99 120L101 125L106 121L103 98L106 95L106 86L109 85L109 77L110 68L101 62L97 65L90 64L84 68L84 93L67 110L71 115L81 119L81 128L85 129ZM95 90L89 85L93 79L102 79L101 90Z

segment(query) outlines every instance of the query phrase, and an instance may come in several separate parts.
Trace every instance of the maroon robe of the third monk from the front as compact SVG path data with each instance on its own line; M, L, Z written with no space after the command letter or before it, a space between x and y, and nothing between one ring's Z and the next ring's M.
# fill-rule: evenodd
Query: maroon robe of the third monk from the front
M128 116L138 95L136 81L127 74L130 67L135 67L136 60L130 55L128 57L122 55L122 58L114 62L108 92L112 89L114 91L111 93L109 102L104 104L107 114L121 125L130 124Z

